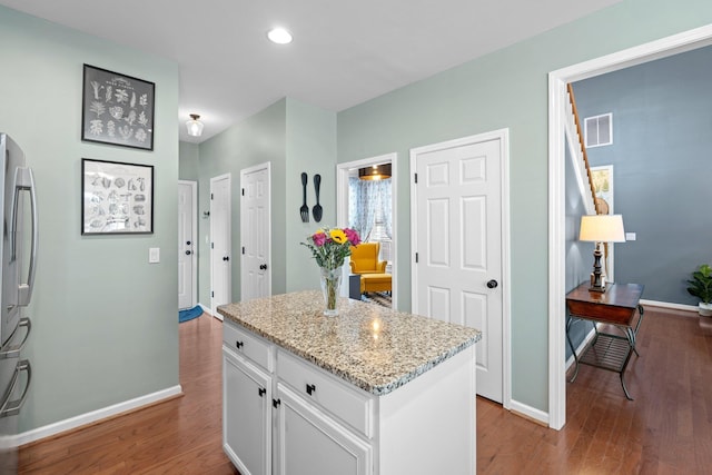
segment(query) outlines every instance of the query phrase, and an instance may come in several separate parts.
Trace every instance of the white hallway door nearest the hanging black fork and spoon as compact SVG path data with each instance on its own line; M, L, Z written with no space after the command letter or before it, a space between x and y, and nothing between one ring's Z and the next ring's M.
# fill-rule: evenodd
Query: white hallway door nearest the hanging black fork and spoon
M240 171L240 300L271 294L269 164Z

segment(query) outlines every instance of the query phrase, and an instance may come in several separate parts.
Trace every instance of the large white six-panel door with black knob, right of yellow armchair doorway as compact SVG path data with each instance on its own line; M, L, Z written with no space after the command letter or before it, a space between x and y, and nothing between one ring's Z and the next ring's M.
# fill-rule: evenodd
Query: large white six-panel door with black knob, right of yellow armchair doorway
M458 140L413 151L413 309L475 327L477 394L502 403L502 140Z

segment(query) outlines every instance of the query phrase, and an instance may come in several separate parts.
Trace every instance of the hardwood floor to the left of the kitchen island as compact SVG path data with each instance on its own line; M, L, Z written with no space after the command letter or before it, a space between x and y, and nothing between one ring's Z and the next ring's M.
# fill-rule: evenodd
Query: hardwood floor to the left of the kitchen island
M20 474L237 474L222 453L220 320L180 324L185 396L20 448Z

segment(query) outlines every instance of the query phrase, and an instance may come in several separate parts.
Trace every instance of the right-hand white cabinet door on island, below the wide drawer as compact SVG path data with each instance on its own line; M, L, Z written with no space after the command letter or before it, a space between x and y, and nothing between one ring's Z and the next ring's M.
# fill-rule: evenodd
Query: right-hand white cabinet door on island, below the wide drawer
M373 449L291 389L277 384L280 475L366 475L373 473Z

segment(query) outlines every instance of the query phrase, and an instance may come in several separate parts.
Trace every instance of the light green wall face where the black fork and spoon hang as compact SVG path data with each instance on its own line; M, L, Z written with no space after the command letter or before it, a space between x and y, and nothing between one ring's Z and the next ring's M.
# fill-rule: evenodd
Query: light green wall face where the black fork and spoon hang
M301 172L308 175L309 222L301 222ZM314 220L314 176L322 176L320 222ZM301 246L320 227L336 225L336 113L287 99L287 291L319 288L318 267L309 249Z

